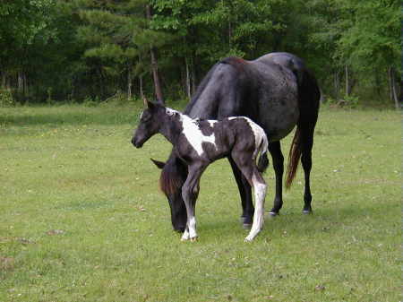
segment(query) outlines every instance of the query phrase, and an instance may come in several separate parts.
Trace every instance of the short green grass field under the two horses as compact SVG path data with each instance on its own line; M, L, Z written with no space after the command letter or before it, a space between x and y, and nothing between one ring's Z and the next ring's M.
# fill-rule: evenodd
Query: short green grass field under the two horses
M401 300L398 113L322 109L313 215L301 213L300 169L281 215L247 244L226 160L201 178L199 241L180 242L149 160L170 145L156 136L135 150L138 116L0 108L0 301Z

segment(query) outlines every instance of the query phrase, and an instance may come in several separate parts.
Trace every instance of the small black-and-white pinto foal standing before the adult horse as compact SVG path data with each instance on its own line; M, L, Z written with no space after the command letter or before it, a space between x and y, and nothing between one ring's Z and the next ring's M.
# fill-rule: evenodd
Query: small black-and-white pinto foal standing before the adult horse
M253 186L255 210L253 226L245 241L251 241L263 227L266 183L262 177L269 165L268 139L264 130L244 116L227 117L221 121L199 120L174 109L146 101L140 125L133 136L136 148L154 134L164 135L174 146L173 151L188 168L182 186L182 197L187 213L186 229L182 240L197 239L195 205L199 194L201 174L211 162L230 156ZM256 157L261 152L259 164Z

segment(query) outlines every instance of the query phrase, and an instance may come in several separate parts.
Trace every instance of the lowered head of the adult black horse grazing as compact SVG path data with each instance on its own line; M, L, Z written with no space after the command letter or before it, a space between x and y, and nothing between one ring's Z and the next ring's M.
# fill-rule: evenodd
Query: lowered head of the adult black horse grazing
M151 159L152 160L152 159ZM166 194L169 207L171 209L172 227L177 232L184 232L186 228L186 207L182 199L182 186L187 176L187 168L184 163L171 154L166 163L152 160L161 169L159 186Z

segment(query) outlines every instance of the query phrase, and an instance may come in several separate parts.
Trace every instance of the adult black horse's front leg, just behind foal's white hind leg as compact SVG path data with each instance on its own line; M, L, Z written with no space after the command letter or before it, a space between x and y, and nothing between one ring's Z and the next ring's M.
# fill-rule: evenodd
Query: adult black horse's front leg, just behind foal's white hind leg
M244 224L244 227L250 227L253 222L253 202L252 202L252 188L249 185L248 181L242 175L242 172L236 166L236 163L232 158L228 158L229 163L231 164L232 172L234 173L234 177L236 178L236 185L238 186L239 195L241 196L242 202L242 216L241 220Z

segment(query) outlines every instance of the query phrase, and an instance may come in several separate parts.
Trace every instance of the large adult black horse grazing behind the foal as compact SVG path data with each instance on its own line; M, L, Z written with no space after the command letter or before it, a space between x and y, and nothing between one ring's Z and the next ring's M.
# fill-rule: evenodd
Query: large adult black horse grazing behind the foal
M296 126L288 155L286 187L291 186L301 159L304 168L304 213L312 211L310 172L312 168L313 132L318 118L321 93L313 73L297 56L270 53L253 61L228 57L214 65L201 81L184 114L193 118L222 119L248 116L261 125L269 139L269 151L276 174L276 194L270 215L282 207L284 157L280 140ZM242 200L244 225L253 222L251 186L236 163L228 158ZM183 232L186 209L181 187L188 174L184 162L171 152L166 163L153 160L162 168L160 187L167 195L173 228Z

